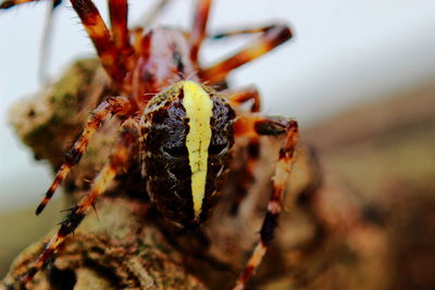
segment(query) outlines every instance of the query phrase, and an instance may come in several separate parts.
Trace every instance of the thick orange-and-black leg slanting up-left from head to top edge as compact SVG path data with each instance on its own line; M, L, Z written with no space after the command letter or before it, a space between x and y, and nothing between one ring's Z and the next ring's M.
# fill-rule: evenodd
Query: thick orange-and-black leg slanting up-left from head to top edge
M126 71L124 65L120 65L117 61L116 47L112 41L100 12L91 0L71 0L71 3L80 17L89 38L92 40L102 66L113 79L116 87L122 88L122 80ZM122 15L122 13L120 14ZM116 36L119 42L121 42L122 37L122 33Z

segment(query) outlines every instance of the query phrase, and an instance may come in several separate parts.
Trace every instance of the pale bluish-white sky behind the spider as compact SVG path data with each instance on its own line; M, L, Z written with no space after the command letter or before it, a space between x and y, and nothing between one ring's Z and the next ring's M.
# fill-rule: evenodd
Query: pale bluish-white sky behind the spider
M51 180L44 162L7 125L8 106L41 89L40 39L49 1L0 13L0 211L36 203ZM105 1L95 1L105 17ZM130 1L137 23L152 1ZM173 0L158 25L188 29L192 1ZM433 0L221 0L212 5L209 31L271 23L290 25L294 39L231 75L234 87L254 84L264 112L309 126L356 103L370 102L435 79ZM66 3L54 18L48 66L57 79L75 59L91 55L77 16ZM207 43L213 63L249 38ZM28 182L23 182L23 181Z

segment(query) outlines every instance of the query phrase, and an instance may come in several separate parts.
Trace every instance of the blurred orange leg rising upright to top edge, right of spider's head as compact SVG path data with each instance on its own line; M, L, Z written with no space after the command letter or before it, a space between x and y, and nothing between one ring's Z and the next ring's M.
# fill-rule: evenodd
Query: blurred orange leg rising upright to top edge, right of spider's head
M206 38L211 0L198 0L190 34L190 59L198 63L199 48Z

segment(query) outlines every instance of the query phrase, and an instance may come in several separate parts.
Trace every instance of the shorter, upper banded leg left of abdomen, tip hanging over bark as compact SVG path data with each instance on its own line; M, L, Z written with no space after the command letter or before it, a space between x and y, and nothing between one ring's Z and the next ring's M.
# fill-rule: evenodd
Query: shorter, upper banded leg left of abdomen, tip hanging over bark
M96 110L92 111L91 115L88 117L86 122L85 128L78 137L77 141L75 141L73 148L65 154L65 161L59 168L55 174L54 180L51 184L50 188L47 190L45 198L39 203L36 209L36 214L40 214L46 207L47 203L50 201L54 191L61 185L61 182L65 179L66 175L70 173L71 168L77 164L86 151L86 148L92 138L94 134L101 127L101 124L104 122L109 114L124 114L128 112L130 109L129 101L124 97L113 97L108 98L102 101Z

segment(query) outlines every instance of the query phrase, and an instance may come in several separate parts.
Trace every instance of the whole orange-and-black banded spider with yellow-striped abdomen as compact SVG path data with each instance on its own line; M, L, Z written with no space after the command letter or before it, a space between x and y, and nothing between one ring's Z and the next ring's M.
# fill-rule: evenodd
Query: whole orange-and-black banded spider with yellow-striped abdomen
M10 7L23 1L7 2ZM260 97L253 87L219 88L233 70L287 41L291 31L287 26L276 24L220 34L215 37L258 36L234 55L204 68L198 54L208 37L206 27L211 2L197 1L191 31L186 33L174 28L128 29L126 0L109 0L111 29L108 29L91 0L71 0L117 96L105 98L91 112L38 205L37 215L79 162L103 122L110 115L122 122L116 143L90 190L61 223L57 235L23 277L24 283L44 267L117 173L126 167L135 144L140 148L141 175L151 203L169 223L182 229L195 229L208 219L219 201L235 139L247 138L249 141L246 174L237 187L239 192L236 192L233 213L237 212L249 187L249 177L259 157L260 136L283 136L260 240L235 289L244 289L260 265L277 227L298 139L298 124L284 117L261 116ZM248 101L252 105L245 110L243 104Z

